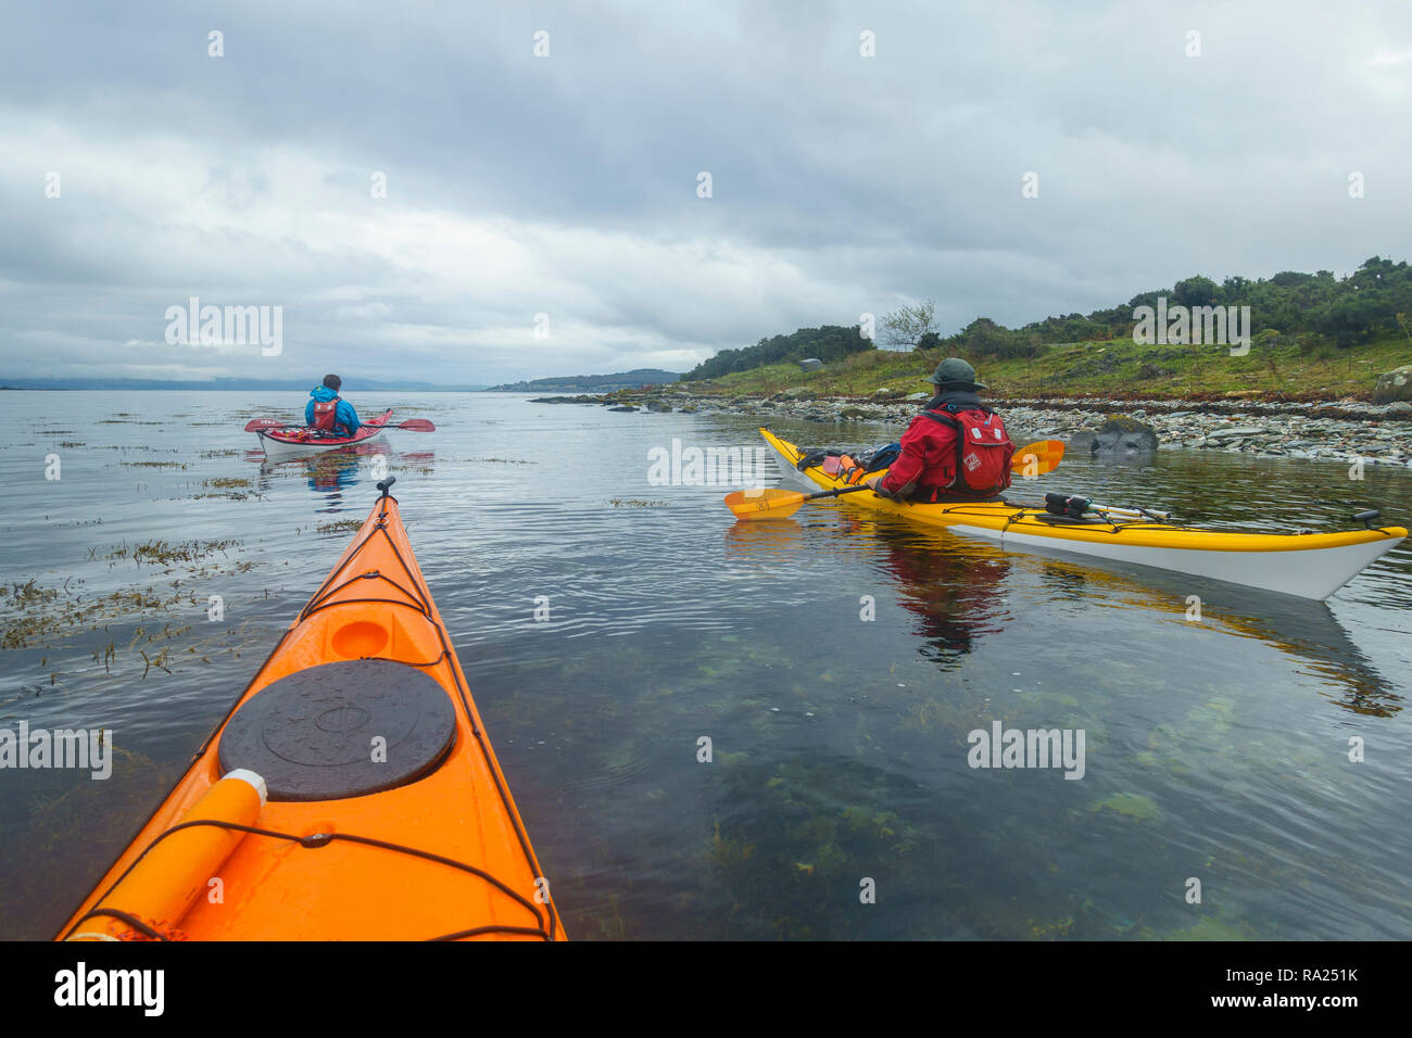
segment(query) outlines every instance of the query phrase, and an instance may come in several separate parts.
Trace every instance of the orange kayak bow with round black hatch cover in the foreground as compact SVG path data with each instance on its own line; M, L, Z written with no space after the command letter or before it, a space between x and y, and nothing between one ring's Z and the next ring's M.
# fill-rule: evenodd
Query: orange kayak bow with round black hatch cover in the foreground
M391 483L61 939L565 939Z

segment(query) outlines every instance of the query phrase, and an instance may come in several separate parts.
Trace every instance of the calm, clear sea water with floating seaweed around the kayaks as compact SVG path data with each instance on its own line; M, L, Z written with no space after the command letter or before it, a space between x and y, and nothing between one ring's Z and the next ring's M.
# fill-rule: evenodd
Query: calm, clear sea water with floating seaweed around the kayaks
M106 726L117 763L106 782L0 771L0 938L49 936L88 891L326 575L380 465L572 938L1412 936L1406 548L1316 604L839 503L736 525L730 487L650 486L648 451L751 448L746 418L354 402L438 431L263 465L240 428L298 394L3 394L0 726ZM1067 459L1025 490L1211 525L1412 513L1406 470L1183 452ZM134 558L152 541L162 561ZM1083 780L969 768L993 720L1083 729Z

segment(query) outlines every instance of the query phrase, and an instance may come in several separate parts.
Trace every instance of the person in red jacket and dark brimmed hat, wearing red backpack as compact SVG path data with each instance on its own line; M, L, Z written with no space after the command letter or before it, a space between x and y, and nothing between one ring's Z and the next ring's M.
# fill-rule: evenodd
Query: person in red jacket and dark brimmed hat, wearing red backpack
M1000 415L980 402L976 369L943 360L926 380L936 395L902 434L902 453L887 476L868 480L881 497L908 501L991 500L1010 486L1015 445Z

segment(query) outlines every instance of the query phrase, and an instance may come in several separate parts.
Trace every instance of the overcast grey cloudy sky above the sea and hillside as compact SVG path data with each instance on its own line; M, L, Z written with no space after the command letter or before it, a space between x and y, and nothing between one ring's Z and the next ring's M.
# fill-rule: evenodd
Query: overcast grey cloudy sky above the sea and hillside
M685 370L1343 274L1412 251L1409 102L1406 3L4 0L0 376ZM169 345L191 297L282 352Z

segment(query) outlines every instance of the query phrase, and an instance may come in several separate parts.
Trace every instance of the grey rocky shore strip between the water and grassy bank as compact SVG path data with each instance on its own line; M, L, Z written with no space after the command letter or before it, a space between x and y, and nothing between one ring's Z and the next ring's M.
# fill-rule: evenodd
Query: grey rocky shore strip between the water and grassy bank
M623 411L748 415L761 422L791 418L822 424L875 424L873 431L840 429L840 441L882 441L902 428L926 401L925 394L880 390L867 398L815 397L786 390L771 397L727 397L666 391L541 397L537 402L590 404ZM1172 400L1004 400L995 401L1018 441L1063 439L1086 443L1106 418L1123 415L1152 429L1159 448L1226 451L1260 458L1396 465L1412 469L1412 404L1357 400L1271 402L1241 398Z

